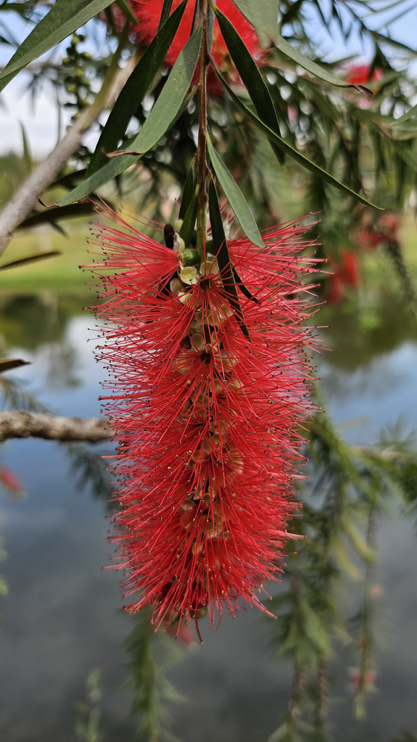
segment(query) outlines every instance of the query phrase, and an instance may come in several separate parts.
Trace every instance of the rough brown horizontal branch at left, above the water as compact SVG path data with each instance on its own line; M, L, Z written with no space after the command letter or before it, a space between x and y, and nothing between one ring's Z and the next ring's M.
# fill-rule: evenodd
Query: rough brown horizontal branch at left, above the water
M26 410L0 413L0 441L10 438L44 438L53 441L89 441L112 438L105 418L56 417Z

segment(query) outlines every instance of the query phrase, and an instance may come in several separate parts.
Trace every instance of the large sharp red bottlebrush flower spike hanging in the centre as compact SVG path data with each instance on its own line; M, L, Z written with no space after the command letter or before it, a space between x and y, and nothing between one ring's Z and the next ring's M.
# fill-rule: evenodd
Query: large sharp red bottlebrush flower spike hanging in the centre
M112 377L102 399L121 505L111 538L127 610L151 603L159 626L207 609L213 622L242 600L261 606L261 588L282 570L304 461L299 426L312 410L306 228L267 230L263 250L228 242L257 300L241 301L248 340L215 256L184 267L177 236L170 249L101 211L118 222L99 226L104 263L90 268L103 286L98 358Z

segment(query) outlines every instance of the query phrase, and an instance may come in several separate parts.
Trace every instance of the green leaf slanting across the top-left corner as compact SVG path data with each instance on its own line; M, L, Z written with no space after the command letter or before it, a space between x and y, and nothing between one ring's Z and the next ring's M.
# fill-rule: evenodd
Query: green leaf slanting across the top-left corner
M59 44L70 33L84 26L101 10L110 5L109 0L64 0L56 2L44 18L36 24L33 31L24 39L13 54L10 62L0 72L0 91L6 87L19 70L38 59L52 47Z

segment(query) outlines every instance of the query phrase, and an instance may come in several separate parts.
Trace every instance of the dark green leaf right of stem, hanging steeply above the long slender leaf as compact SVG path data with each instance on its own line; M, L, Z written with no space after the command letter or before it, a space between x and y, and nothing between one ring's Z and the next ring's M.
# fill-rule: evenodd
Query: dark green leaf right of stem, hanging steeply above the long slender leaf
M259 118L262 119L270 129L276 131L276 134L278 134L279 137L281 132L279 131L278 119L273 105L273 100L270 96L270 91L264 82L264 78L258 70L256 62L254 62L251 54L244 45L244 42L242 42L241 37L238 35L237 31L226 16L217 9L215 10L215 13L227 49L229 50L230 56L236 65L236 69L247 88L247 92L250 95L250 99L255 106ZM276 154L278 162L281 162L281 165L283 165L285 161L284 152L274 144L272 145L272 148L274 154Z

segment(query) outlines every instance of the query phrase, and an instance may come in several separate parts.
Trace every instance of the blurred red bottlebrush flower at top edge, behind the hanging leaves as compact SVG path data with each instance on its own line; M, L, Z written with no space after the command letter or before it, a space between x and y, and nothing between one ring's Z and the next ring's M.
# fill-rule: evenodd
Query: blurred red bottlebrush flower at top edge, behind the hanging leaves
M172 11L176 10L181 0L173 0ZM163 6L163 0L130 0L130 7L135 13L139 24L133 27L133 31L136 34L136 39L141 42L142 45L147 46L150 44L152 39L156 36L156 32L159 26L159 19L161 18L161 10ZM251 26L250 22L245 19L240 10L236 7L233 0L218 0L218 9L224 13L225 16L230 20L233 26L241 36L242 41L250 51L254 59L261 59L264 51L258 42L258 36L256 31ZM189 1L184 11L184 16L179 24L179 30L176 33L173 44L170 47L165 62L170 67L176 62L177 57L181 49L187 43L190 38L191 27L193 24L195 3ZM223 36L221 36L220 28L218 27L217 19L214 22L213 32L213 47L212 56L216 65L222 72L232 81L238 80L238 74L233 62L230 59L229 52L227 51L226 44L224 43ZM196 73L197 74L197 73ZM213 70L209 72L209 78L207 79L207 89L210 93L218 94L222 88Z

